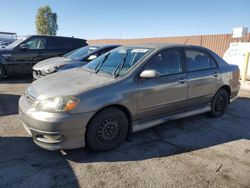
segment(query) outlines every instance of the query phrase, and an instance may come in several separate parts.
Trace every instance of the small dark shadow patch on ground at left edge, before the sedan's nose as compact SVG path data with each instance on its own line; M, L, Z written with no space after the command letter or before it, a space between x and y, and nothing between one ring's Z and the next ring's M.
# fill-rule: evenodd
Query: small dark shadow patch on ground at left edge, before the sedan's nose
M21 95L0 93L0 116L14 115L18 113L18 100Z

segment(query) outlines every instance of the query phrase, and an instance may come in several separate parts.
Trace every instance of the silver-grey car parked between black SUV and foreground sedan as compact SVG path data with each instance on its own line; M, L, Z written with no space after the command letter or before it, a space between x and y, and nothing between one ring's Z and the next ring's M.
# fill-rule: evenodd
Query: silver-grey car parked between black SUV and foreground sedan
M33 66L34 79L51 73L83 66L98 56L119 47L120 45L85 46L65 54L62 57L46 59Z

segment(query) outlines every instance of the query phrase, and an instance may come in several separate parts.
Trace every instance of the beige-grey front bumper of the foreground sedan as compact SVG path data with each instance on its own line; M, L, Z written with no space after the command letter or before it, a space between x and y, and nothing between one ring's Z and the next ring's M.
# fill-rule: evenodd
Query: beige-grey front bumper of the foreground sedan
M93 113L38 112L22 96L19 115L25 130L38 146L47 150L62 150L85 146L86 125Z

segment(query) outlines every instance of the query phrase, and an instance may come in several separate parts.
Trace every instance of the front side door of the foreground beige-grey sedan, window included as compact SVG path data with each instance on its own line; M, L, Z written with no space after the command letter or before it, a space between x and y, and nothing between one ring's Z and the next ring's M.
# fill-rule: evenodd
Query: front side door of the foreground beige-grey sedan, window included
M185 111L187 75L180 48L155 55L144 70L154 69L159 77L138 81L138 121L166 117Z

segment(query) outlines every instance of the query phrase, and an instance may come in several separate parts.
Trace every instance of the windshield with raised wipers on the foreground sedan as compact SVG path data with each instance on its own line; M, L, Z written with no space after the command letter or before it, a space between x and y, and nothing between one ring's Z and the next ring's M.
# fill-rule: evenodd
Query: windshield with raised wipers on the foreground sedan
M100 71L115 77L122 76L150 51L151 49L148 48L116 48L91 61L84 68L96 73Z

